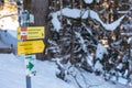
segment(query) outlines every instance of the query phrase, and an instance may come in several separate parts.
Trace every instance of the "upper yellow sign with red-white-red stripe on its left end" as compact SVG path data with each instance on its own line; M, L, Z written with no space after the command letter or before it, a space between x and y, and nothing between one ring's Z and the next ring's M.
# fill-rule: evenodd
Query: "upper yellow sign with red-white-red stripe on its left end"
M18 40L35 40L45 37L44 26L22 26L18 28Z

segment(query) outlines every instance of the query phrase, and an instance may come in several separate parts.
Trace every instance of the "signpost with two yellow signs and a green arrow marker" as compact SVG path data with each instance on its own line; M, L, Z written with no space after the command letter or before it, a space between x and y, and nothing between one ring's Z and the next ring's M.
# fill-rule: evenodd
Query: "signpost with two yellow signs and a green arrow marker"
M26 88L32 88L31 86L31 75L35 75L36 70L32 70L34 64L34 53L42 53L44 51L43 41L31 41L37 38L44 38L44 26L28 26L28 19L30 14L26 10L19 11L19 22L20 28L18 29L18 40L22 42L18 42L18 55L25 55L25 70L26 70ZM30 40L30 41L26 41Z

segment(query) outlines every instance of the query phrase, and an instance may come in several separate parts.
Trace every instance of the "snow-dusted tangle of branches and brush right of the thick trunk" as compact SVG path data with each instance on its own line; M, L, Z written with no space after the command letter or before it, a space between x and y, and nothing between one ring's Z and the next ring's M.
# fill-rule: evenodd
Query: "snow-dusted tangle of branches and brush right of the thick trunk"
M59 52L54 52L57 55L53 58L62 58L63 65L70 62L72 66L103 76L106 80L121 82L122 79L125 84L130 82L132 46L128 42L131 35L125 35L125 30L132 24L132 6L129 1L123 2L129 6L124 8L128 13L119 13L121 2L123 1L52 1L51 31L55 40L50 40L59 47ZM129 30L130 32L132 31ZM64 72L64 68L61 70Z

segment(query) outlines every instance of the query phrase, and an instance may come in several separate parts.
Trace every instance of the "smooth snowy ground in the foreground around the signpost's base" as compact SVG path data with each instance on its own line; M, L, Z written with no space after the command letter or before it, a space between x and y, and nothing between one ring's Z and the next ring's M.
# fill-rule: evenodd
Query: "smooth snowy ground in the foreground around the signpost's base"
M72 82L65 82L55 75L58 72L54 62L36 61L36 76L32 77L32 88L77 88ZM87 88L127 88L121 85L106 82L103 78L84 73ZM80 79L81 81L81 79ZM13 54L0 54L0 88L25 88L24 59Z

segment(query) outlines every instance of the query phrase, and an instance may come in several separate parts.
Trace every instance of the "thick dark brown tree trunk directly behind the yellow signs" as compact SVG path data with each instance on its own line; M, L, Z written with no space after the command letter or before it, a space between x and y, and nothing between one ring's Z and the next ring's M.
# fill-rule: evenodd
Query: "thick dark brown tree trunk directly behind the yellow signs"
M47 37L50 35L47 15L48 15L48 0L24 0L24 10L30 11L34 15L33 26L45 26L45 47L47 46ZM36 58L44 59L44 53L36 54Z

